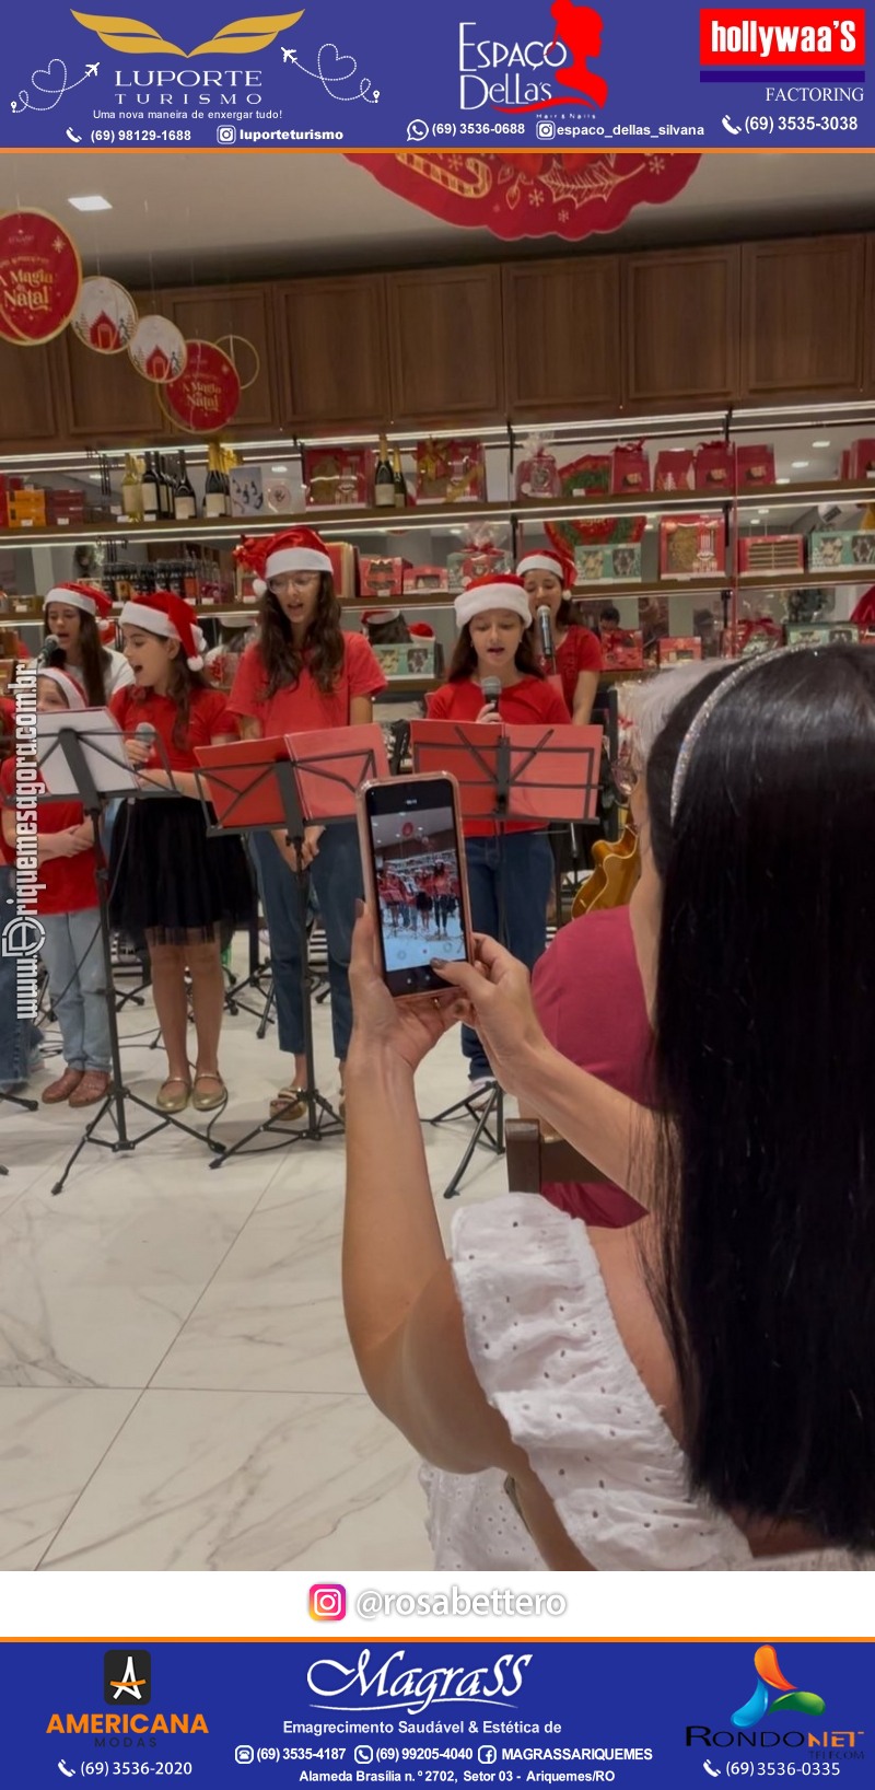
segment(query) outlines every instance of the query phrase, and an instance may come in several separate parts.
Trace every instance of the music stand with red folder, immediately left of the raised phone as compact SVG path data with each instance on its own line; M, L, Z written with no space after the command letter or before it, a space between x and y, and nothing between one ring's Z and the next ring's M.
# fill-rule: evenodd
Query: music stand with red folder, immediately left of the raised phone
M363 737L367 736L367 739ZM319 739L324 736L320 734ZM211 1169L220 1169L238 1156L254 1137L281 1131L279 1142L267 1149L285 1149L288 1144L319 1144L324 1137L338 1137L344 1121L317 1088L313 1053L313 986L317 977L310 967L308 911L310 870L302 863L306 827L329 827L349 822L354 811L356 789L370 777L387 773L385 745L379 727L331 730L333 750L324 746L310 755L306 734L288 734L285 739L245 741L242 746L204 746L199 752L200 770L195 773L200 800L208 814L209 832L276 832L285 827L295 850L297 913L301 925L301 1008L304 1019L304 1058L308 1067L306 1124L288 1129L283 1112L252 1126L236 1144L224 1149ZM344 745L342 741L349 743ZM247 750L249 748L249 750ZM234 759L233 755L238 754ZM231 755L231 761L229 761ZM215 820L213 820L215 813ZM265 1008L267 1026L270 999ZM290 1101L288 1106L293 1103ZM256 1151L252 1151L256 1155Z

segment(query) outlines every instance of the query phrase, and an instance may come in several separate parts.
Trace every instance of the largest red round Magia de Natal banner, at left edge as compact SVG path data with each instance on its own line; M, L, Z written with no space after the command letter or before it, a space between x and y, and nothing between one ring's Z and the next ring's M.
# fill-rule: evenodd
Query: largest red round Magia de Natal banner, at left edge
M66 329L75 310L79 249L48 211L0 217L0 337L38 347Z

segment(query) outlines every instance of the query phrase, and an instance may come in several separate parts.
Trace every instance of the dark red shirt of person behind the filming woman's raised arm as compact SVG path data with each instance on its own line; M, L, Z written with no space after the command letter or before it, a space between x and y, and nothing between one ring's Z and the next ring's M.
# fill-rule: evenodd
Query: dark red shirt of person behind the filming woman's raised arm
M551 1045L642 1106L653 1104L650 1029L628 908L605 908L564 925L531 976ZM587 1224L621 1230L644 1217L614 1181L549 1181L544 1199Z

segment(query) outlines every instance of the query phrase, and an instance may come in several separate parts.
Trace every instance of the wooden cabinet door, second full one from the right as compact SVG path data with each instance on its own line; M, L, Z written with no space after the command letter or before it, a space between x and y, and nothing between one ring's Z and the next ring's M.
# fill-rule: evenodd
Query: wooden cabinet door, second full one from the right
M739 251L689 249L623 261L624 405L725 405L739 385Z

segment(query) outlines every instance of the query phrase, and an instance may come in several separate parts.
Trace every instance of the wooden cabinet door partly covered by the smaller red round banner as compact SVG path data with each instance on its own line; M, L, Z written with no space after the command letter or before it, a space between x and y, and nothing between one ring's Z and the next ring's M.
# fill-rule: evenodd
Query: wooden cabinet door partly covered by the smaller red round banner
M166 315L188 342L218 342L231 356L245 390L224 435L247 428L279 428L274 306L270 286L197 286L165 294Z

